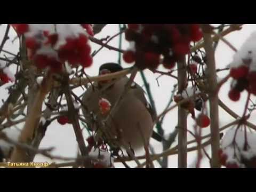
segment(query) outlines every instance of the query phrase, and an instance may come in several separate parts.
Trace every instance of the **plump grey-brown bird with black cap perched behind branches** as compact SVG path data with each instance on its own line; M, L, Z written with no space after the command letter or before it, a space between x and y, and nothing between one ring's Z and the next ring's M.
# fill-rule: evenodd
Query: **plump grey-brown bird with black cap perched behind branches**
M99 75L122 70L123 67L117 63L105 63L99 68ZM104 98L113 107L124 93L129 78L124 76L112 80L94 83L87 88L82 98L84 106L82 110L86 119L92 118L92 116L98 121L105 119L106 116L100 113L99 100ZM118 137L121 137L123 142L118 142L119 146L127 145L136 151L148 145L151 137L159 142L162 142L163 138L153 131L156 113L147 101L145 91L135 82L130 86L123 98L119 100L117 110L105 122L105 127L111 138L120 140ZM87 125L92 127L92 121L87 122ZM122 133L121 136L118 133Z

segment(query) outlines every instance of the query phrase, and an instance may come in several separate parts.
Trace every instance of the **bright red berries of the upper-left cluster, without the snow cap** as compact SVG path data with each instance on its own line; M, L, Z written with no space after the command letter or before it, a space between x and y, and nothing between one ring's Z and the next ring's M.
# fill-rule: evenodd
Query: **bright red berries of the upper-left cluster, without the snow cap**
M65 25L65 24L62 24ZM92 27L89 24L81 24L88 33L93 35ZM29 24L12 24L18 35L30 32ZM61 33L58 32L58 33ZM85 33L77 36L68 36L65 44L56 48L60 34L49 31L39 30L33 36L26 36L26 46L29 49L30 59L35 61L39 69L50 67L54 72L62 70L63 63L68 61L71 67L90 67L92 65L91 46Z

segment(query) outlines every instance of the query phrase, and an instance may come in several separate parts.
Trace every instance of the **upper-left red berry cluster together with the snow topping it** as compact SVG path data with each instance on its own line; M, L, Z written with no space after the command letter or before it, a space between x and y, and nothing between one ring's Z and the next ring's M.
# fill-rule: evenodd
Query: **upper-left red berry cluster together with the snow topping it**
M93 63L89 34L90 24L12 24L25 35L28 57L39 69L49 67L55 73L68 62L71 67L90 67ZM84 30L84 28L86 30Z

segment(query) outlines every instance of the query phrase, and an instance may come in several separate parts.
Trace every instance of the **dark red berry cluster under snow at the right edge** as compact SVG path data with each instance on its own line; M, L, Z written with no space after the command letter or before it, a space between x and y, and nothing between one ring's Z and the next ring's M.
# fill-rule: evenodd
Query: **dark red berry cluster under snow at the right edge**
M243 65L230 69L230 76L234 78L228 96L233 101L238 101L244 90L256 95L256 71L250 71L252 60L243 60Z

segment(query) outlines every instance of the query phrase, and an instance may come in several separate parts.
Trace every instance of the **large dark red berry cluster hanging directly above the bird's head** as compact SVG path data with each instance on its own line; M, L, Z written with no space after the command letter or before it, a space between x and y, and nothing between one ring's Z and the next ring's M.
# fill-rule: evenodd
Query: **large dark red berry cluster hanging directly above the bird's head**
M199 25L128 24L125 38L134 47L123 54L126 63L135 61L139 69L156 69L163 55L163 66L172 69L175 62L190 51L190 42L203 37Z

